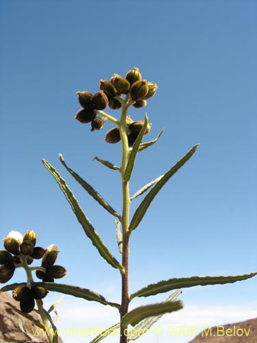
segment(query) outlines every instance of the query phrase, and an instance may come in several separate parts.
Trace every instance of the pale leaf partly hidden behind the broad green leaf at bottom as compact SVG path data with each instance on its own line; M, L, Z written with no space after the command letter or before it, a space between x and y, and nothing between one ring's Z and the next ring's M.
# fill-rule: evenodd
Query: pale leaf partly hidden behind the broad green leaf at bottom
M167 301L175 301L178 296L182 293L182 290L178 289L178 291L174 292L165 300ZM162 318L162 314L160 316L149 317L140 322L136 327L130 331L127 335L129 341L134 341L140 338L141 335L144 335L160 318Z

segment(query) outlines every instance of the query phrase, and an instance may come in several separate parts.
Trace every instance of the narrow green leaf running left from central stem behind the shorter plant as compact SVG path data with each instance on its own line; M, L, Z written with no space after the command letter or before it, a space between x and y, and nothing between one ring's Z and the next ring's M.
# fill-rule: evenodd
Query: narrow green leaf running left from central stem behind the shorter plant
M12 291L15 287L20 285L26 285L26 283L12 283L11 285L6 285L5 287L1 288L2 292ZM59 292L63 294L68 294L70 296L76 296L77 298L83 298L88 301L97 301L102 305L109 305L112 307L116 307L117 309L120 308L120 305L117 303L112 303L101 294L91 291L90 289L86 289L83 287L73 286L73 285L66 285L64 283L55 283L55 282L45 282L45 283L33 283L33 285L45 285L49 291L52 292Z

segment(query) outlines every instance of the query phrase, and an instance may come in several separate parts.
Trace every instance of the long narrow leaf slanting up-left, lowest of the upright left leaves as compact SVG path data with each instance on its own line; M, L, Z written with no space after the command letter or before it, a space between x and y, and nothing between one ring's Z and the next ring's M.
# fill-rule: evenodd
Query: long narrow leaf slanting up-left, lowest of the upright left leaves
M75 213L77 220L82 225L82 228L84 228L84 232L88 236L88 238L92 241L93 245L97 248L99 254L103 259L105 259L110 265L112 265L113 268L117 268L121 271L121 273L124 272L123 266L117 261L117 259L112 256L108 248L105 244L103 244L103 241L101 241L101 238L99 237L98 233L96 232L95 228L93 228L93 225L88 220L88 217L86 217L86 214L84 211L82 211L81 207L79 206L79 202L73 196L73 193L71 189L69 189L68 185L66 185L65 180L60 176L58 171L54 167L51 166L49 162L46 160L42 160L42 163L45 165L45 167L50 171L53 178L56 179L56 182L60 186L60 189L64 193L64 196L68 200L69 204L71 205L71 209L73 209L73 212Z

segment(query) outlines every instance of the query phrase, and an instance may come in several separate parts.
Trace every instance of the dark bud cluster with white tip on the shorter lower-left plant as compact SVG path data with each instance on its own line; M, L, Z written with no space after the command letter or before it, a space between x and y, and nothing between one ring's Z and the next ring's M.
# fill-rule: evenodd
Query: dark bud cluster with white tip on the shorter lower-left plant
M19 285L12 292L15 300L20 302L21 311L29 313L34 309L35 299L40 300L47 296L48 290L44 285L32 285L32 270L43 282L53 282L66 275L67 271L62 265L54 265L58 257L58 247L51 245L44 249L36 246L36 233L27 230L25 235L11 231L3 239L5 250L0 250L0 283L12 279L16 268L24 268L27 274L27 285ZM42 259L38 267L30 267L34 259Z

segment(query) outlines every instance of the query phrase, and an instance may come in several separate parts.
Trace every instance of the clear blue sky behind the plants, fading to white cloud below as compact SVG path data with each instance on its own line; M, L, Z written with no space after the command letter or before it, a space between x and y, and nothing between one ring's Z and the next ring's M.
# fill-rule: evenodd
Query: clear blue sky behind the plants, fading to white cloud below
M33 228L38 244L58 244L59 263L69 270L62 282L119 301L119 274L85 237L41 159L57 167L119 258L113 218L76 185L58 154L121 211L119 174L92 161L99 156L119 165L121 146L104 142L110 123L90 132L75 121L76 91L95 93L100 79L136 66L143 78L158 84L158 92L130 115L142 120L147 111L153 123L147 140L162 127L165 131L138 156L131 193L167 171L195 143L200 146L132 235L131 291L172 276L255 271L256 7L252 0L1 1L1 237ZM23 277L17 272L14 281ZM181 298L185 309L165 320L184 318L190 326L195 318L201 325L256 317L256 278L185 289ZM71 317L75 326L87 327L88 311L95 309L96 316L103 311L87 303L76 303L74 310L68 306L73 300L65 301L60 327L71 325ZM83 317L75 316L79 309ZM110 311L109 321L99 318L99 326L117 321L112 309L104 311Z

